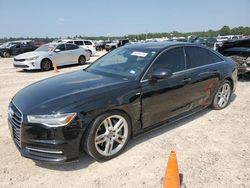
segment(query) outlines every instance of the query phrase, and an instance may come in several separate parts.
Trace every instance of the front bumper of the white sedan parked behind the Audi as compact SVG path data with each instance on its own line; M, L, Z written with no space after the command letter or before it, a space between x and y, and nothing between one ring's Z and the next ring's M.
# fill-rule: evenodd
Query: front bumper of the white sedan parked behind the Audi
M14 59L13 65L26 70L40 69L40 60Z

